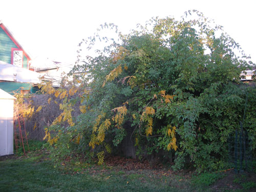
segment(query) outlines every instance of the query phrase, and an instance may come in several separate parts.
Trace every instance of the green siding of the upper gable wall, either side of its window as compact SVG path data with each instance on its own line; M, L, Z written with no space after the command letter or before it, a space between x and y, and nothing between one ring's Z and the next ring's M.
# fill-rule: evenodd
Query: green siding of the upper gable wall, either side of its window
M12 39L0 28L0 60L11 63L12 48L18 48ZM24 51L24 50L23 50ZM23 68L28 69L28 58L23 54Z

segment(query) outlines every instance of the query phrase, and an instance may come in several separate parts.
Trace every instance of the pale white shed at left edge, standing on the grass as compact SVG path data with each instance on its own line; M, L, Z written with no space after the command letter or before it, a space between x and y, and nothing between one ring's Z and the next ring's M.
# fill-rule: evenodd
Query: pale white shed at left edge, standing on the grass
M0 156L13 154L14 99L0 89Z

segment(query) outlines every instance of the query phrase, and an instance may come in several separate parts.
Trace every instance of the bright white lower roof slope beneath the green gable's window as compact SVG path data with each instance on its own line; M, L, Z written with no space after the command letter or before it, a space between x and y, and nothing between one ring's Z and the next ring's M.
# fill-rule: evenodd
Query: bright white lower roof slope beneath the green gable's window
M15 75L16 74L16 75ZM16 77L15 77L16 76ZM41 74L0 61L0 80L40 83Z

